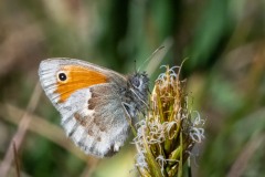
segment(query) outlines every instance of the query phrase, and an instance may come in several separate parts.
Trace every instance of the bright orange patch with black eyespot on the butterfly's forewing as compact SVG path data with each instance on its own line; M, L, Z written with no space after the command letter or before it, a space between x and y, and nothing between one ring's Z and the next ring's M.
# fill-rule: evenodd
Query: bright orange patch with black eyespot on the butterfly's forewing
M85 88L95 84L107 82L107 76L88 70L83 66L67 65L63 66L57 72L57 87L55 93L59 93L59 102L65 102L74 92Z

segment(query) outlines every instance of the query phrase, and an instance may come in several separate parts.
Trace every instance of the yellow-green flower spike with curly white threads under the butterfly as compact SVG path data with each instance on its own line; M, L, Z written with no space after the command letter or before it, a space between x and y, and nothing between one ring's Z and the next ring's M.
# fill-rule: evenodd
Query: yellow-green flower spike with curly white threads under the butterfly
M177 176L182 173L195 143L204 138L199 112L189 107L181 66L166 67L156 80L146 119L137 124L136 167L141 176ZM174 70L178 69L178 73Z

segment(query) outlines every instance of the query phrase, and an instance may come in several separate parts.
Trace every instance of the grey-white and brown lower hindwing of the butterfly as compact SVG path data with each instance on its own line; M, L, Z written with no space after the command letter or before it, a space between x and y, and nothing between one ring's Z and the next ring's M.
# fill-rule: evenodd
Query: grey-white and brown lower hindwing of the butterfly
M89 87L87 104L68 116L62 115L66 134L86 154L99 157L118 152L128 136L128 122L112 85ZM75 95L73 95L75 96Z

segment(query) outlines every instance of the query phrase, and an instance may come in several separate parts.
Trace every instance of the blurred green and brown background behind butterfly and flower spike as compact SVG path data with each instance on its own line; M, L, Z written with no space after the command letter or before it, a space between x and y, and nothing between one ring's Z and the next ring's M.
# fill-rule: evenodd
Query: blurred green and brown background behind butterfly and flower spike
M159 64L189 59L182 79L206 119L193 176L265 176L264 34L263 0L0 1L0 173L15 176L11 142L25 127L14 160L22 176L135 176L130 140L98 160L66 139L59 113L34 88L39 63L76 58L126 74L172 41ZM163 70L152 70L153 81Z

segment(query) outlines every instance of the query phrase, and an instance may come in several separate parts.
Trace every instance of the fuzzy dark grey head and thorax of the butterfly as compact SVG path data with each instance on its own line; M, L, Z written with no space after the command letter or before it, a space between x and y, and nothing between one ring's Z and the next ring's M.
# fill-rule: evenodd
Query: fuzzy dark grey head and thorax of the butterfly
M145 112L148 85L149 79L145 72L128 75L127 87L121 91L121 102L132 119L137 117L138 112Z

